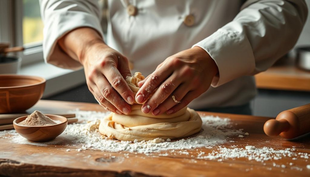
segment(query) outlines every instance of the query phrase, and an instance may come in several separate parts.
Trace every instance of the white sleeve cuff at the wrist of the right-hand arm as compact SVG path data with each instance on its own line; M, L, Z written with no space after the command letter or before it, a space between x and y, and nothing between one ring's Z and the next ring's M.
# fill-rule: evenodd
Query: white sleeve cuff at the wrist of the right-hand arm
M247 75L255 69L250 42L242 33L219 29L194 46L203 48L219 68L219 74L211 83L213 87Z

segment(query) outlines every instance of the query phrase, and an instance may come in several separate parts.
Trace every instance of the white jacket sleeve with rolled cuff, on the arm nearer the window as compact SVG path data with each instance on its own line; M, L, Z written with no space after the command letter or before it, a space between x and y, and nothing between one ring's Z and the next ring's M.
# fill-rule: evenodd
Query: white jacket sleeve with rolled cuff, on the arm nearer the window
M101 11L97 0L40 0L43 29L43 54L47 63L61 68L78 69L82 65L67 55L57 41L79 27L91 27L103 32Z

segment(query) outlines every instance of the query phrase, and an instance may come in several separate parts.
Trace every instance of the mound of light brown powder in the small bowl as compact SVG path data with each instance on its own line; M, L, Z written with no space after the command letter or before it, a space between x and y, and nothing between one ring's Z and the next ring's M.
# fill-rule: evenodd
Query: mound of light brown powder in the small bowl
M57 124L49 117L42 114L40 111L34 111L25 120L18 123L20 125L26 126L45 126L45 125L55 125Z

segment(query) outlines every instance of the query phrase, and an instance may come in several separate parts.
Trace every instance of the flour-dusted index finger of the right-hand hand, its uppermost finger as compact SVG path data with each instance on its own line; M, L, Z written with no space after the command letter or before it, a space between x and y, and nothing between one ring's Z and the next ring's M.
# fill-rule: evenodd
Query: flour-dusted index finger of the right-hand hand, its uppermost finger
M143 103L153 91L172 74L172 72L173 70L169 67L161 67L154 71L137 92L135 96L137 103Z

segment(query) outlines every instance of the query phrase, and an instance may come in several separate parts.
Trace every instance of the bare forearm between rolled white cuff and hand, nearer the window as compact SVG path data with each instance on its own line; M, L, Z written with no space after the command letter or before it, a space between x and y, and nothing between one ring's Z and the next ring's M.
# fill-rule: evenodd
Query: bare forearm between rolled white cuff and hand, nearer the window
M61 49L81 64L86 51L97 43L104 44L104 41L95 29L89 27L74 29L58 40Z

